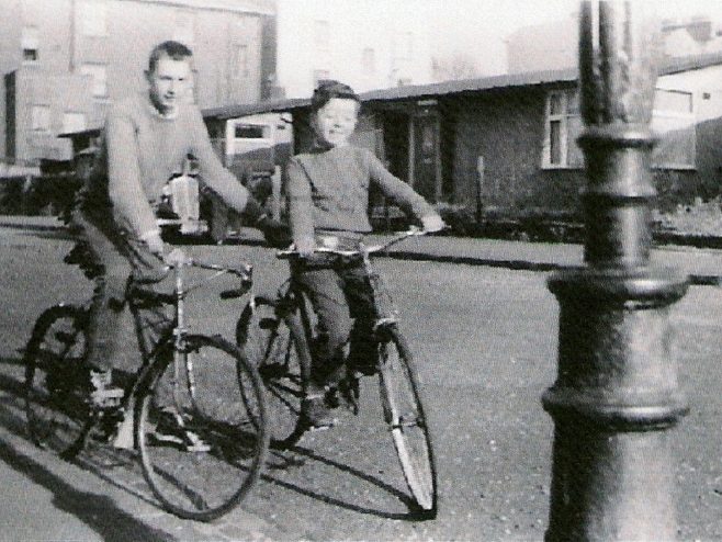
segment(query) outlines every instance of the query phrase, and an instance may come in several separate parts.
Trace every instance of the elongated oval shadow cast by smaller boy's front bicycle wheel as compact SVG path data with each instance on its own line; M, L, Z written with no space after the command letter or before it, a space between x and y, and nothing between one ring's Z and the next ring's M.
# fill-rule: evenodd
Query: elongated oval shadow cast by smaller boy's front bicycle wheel
M270 482L272 484L275 484L278 486L281 486L285 489L293 490L295 493L298 493L301 495L305 495L306 497L314 498L316 500L319 500L321 503L326 503L328 505L334 505L338 506L340 508L346 508L347 510L352 510L354 512L359 513L365 513L370 516L376 516L379 518L384 518L384 519L398 519L398 520L418 520L421 519L419 513L415 511L416 508L416 503L406 494L399 492L395 487L382 482L381 479L364 473L358 468L354 468L352 466L346 465L343 463L340 463L338 461L334 461L331 459L325 458L323 455L319 455L315 453L313 450L309 450L307 448L303 447L294 447L289 451L285 452L272 452L273 458L271 461L269 461L269 464L266 468L267 474L263 474L261 477L266 482ZM274 462L278 461L278 463ZM269 474L269 472L272 471L282 471L282 470L289 470L292 466L302 466L305 465L308 461L315 461L317 463L320 463L326 466L330 466L331 468L335 468L339 472L339 477L340 476L353 476L356 478L359 478L362 482L365 482L368 484L371 484L383 492L386 492L387 494L393 495L397 499L399 499L404 505L409 509L409 512L407 513L397 513L397 512L387 512L385 510L379 510L379 509L373 509L369 507L363 507L356 505L353 503L347 501L347 500L341 500L338 497L332 497L330 495L325 495L323 492L323 488L317 486L314 487L313 489L304 488L301 487L294 483L291 482L285 482L280 479L278 476L273 476Z

